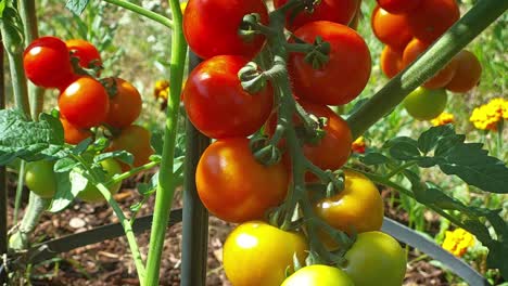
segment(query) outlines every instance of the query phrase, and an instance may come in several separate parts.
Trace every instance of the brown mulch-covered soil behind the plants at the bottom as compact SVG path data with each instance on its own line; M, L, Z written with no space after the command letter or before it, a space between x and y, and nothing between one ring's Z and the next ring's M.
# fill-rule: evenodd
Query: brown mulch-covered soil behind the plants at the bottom
M129 213L129 206L140 200L135 178L123 184L122 191L115 198ZM13 196L15 187L11 184L9 213L12 221ZM27 190L25 190L27 192ZM25 193L26 194L26 193ZM388 195L384 191L383 195ZM27 195L26 195L27 196ZM25 198L26 199L26 198ZM152 196L138 216L149 214L153 210L154 197ZM175 208L181 207L181 191L177 190ZM386 216L401 222L407 222L404 212L396 208L386 208ZM45 213L35 232L35 239L45 240L61 237L72 233L78 233L92 227L117 222L113 210L105 204L86 204L77 202L68 209L60 213ZM206 285L227 285L224 270L221 269L221 249L228 233L234 224L226 223L217 218L209 218L208 259ZM148 252L148 232L138 235L138 244L144 256ZM168 229L161 264L161 285L179 285L180 282L180 247L181 247L181 223ZM404 285L449 285L445 278L445 272L431 265L428 259L418 259L421 253L411 250ZM145 256L143 257L145 259ZM99 244L80 247L59 256L58 260L46 261L31 269L33 285L139 285L135 265L131 260L127 240L124 237L104 240ZM18 285L15 282L13 285Z

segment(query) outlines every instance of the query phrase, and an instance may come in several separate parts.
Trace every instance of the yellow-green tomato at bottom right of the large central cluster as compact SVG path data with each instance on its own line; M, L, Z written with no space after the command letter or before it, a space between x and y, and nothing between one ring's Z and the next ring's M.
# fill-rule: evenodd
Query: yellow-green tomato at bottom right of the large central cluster
M355 285L401 286L406 273L406 253L397 240L382 232L358 234L345 253L344 271Z

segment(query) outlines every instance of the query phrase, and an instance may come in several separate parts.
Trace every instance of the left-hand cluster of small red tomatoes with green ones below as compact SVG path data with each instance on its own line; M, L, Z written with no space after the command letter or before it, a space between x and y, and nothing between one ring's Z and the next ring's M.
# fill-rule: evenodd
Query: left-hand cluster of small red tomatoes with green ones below
M26 48L23 64L27 78L34 84L60 91L58 105L66 143L78 144L87 138L96 138L102 128L107 130L103 134L111 133L106 151L131 153L135 167L149 161L153 154L150 132L132 125L141 113L141 95L122 78L98 78L102 60L92 43L82 39L63 41L58 37L41 37ZM85 157L91 161L93 155L86 154ZM53 164L41 160L27 167L27 186L46 198L53 197L56 190ZM101 161L101 165L110 177L130 168L112 158ZM115 193L118 188L119 184L116 184L110 191ZM87 202L102 199L91 184L78 197Z

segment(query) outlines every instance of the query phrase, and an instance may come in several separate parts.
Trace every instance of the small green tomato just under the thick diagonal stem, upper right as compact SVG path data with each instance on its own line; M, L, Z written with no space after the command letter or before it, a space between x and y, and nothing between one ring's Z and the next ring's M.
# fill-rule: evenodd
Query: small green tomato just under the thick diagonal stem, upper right
M446 90L419 87L409 93L403 103L406 112L415 119L431 120L444 112L446 102Z

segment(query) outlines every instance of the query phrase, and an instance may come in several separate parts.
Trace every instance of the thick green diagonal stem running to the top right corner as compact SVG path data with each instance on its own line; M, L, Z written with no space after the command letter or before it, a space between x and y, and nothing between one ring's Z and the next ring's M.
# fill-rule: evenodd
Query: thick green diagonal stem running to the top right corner
M356 139L397 106L404 98L431 78L454 55L508 9L508 1L481 0L412 65L394 77L357 112L347 118Z

